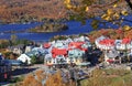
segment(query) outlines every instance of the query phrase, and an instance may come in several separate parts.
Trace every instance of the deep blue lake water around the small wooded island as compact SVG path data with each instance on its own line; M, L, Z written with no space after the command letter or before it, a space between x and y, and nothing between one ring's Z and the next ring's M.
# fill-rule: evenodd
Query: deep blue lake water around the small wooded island
M125 17L125 19L132 20L132 15ZM89 33L94 29L90 25L90 20L86 22L85 25L81 25L78 21L68 21L66 24L68 25L68 30L62 31L62 32L52 32L52 33L15 33L15 35L19 39L26 39L26 40L33 40L33 41L47 41L54 35L72 35L72 34L80 34L80 33ZM132 22L123 22L122 24L129 24L132 25ZM3 31L22 31L31 28L35 28L40 25L40 23L30 23L30 24L1 24L0 25L0 39L10 39L12 35L11 33L2 33ZM110 25L114 29L117 29L117 25L113 25L112 23L108 23L107 26ZM100 24L100 29L105 29L102 24Z

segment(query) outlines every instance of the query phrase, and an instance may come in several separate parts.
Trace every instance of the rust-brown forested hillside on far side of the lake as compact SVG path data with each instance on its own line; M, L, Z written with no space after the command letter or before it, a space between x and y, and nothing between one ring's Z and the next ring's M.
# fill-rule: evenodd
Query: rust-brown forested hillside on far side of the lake
M46 19L64 19L72 15L70 8L74 8L78 14L82 14L80 10L84 9L78 6L82 0L72 0L70 4L66 3L65 0L0 0L0 22L1 23L23 23L23 22L34 22L42 21ZM92 1L92 0L89 0ZM111 2L116 0L99 0L94 2L94 6L86 7L87 15L98 15L98 13L103 13L108 8L111 8ZM87 3L87 0L86 2ZM89 2L88 2L89 3ZM114 8L114 11L121 11L128 8L125 7L127 2L121 0L118 8ZM102 8L103 7L103 8ZM123 8L122 8L123 7ZM67 10L69 9L69 10ZM76 18L77 19L77 18ZM80 18L78 18L80 19Z

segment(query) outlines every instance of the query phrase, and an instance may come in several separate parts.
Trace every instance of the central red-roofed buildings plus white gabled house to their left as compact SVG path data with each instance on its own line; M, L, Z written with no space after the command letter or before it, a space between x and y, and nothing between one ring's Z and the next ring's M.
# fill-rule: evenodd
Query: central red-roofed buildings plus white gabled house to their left
M70 63L80 65L85 62L88 49L90 47L91 44L87 36L68 37L66 40L44 43L40 47L33 47L29 52L21 54L18 60L23 63L28 61L28 63L31 64L31 56L35 55L44 57L46 65Z

